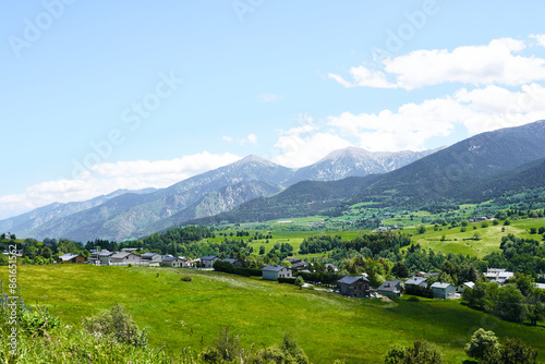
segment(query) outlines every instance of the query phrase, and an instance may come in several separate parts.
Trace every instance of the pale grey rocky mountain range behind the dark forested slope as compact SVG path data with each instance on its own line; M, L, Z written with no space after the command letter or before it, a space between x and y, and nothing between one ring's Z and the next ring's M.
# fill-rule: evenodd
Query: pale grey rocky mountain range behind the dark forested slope
M229 211L301 181L336 181L386 173L433 151L371 153L349 147L301 169L249 156L167 189L117 191L87 202L55 203L1 220L0 231L34 239L134 239L187 220Z

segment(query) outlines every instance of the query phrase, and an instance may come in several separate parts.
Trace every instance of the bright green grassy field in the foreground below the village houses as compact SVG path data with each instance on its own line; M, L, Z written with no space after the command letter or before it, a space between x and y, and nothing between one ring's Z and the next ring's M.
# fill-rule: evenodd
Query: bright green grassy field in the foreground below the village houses
M7 275L3 269L0 277L5 280ZM181 275L193 280L181 281ZM440 345L450 362L461 363L464 343L484 327L499 337L522 338L545 359L543 323L502 321L457 301L383 303L256 278L148 267L21 266L19 283L27 303L47 305L70 325L120 302L141 328L150 328L152 345L174 351L199 351L229 325L246 348L280 343L289 332L313 363L380 363L390 345L415 339Z

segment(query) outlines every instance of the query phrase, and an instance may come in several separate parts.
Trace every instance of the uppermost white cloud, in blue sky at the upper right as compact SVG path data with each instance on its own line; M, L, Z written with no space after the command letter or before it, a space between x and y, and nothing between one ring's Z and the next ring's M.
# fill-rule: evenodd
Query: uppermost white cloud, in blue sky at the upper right
M541 41L541 37L535 36ZM526 48L522 40L494 39L486 46L417 50L387 58L380 70L367 65L351 68L352 81L337 74L329 78L344 87L414 89L443 83L518 86L545 80L545 59L518 54ZM388 81L390 78L391 81Z

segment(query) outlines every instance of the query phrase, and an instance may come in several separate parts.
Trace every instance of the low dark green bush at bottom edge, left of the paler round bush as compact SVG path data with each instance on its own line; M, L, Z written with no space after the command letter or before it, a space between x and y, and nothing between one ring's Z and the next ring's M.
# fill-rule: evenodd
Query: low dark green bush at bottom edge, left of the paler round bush
M385 364L441 364L440 351L428 342L416 340L412 347L395 347L386 354Z

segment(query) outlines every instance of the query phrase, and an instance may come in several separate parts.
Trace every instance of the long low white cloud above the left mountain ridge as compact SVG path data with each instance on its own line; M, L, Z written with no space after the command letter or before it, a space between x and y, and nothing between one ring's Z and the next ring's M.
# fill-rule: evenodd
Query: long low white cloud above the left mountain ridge
M85 178L47 181L27 187L22 194L0 196L0 210L12 210L16 215L53 202L86 201L119 189L167 187L239 159L239 156L229 153L215 155L203 151L170 160L104 162L93 166L92 173L85 174ZM8 216L5 213L4 216Z

